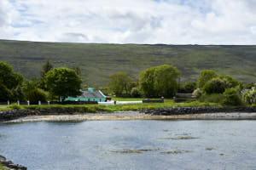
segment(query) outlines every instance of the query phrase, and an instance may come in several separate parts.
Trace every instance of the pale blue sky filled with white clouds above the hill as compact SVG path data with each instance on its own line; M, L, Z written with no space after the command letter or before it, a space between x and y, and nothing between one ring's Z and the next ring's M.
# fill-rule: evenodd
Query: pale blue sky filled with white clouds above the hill
M256 44L256 0L0 0L0 39Z

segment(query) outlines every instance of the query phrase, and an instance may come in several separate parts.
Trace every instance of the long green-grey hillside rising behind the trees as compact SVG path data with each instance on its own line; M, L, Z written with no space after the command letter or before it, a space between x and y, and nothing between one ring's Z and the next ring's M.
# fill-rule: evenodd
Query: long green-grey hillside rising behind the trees
M183 81L195 79L203 69L228 74L245 82L256 82L256 46L137 45L0 40L0 60L25 77L39 76L49 59L55 67L82 70L84 82L102 86L117 71L137 77L145 68L169 64L183 74Z

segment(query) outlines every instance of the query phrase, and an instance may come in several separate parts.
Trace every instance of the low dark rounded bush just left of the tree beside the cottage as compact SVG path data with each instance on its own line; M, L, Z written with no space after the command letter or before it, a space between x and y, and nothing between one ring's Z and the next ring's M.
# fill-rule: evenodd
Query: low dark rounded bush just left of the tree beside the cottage
M26 99L30 101L30 104L38 104L38 101L46 102L46 93L40 88L35 88L26 94Z

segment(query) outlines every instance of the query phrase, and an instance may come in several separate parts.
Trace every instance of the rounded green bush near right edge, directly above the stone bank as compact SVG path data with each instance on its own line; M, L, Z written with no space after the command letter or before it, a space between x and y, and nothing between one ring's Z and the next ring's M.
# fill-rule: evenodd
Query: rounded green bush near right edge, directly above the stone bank
M224 105L241 105L239 90L237 88L227 88L224 91Z

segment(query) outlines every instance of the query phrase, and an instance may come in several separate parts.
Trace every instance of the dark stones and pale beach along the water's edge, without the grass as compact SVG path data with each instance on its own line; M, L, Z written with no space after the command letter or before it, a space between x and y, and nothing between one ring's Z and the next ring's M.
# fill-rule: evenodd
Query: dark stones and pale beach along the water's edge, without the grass
M11 110L0 112L0 122L86 120L256 120L256 107L175 107L113 113L79 113L72 109Z

